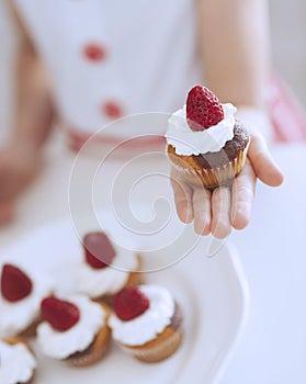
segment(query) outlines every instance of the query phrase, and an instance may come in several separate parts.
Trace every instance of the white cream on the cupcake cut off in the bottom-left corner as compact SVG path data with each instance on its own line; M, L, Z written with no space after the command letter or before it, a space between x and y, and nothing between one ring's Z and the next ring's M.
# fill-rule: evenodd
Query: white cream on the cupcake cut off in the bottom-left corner
M0 341L0 383L26 383L36 369L36 360L21 342L9 345Z

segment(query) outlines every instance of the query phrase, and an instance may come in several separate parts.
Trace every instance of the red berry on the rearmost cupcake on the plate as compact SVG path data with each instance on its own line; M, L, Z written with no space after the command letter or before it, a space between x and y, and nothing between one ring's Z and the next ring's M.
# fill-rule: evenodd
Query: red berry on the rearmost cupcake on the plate
M116 256L109 237L102 231L86 235L83 248L87 263L94 269L110 266Z

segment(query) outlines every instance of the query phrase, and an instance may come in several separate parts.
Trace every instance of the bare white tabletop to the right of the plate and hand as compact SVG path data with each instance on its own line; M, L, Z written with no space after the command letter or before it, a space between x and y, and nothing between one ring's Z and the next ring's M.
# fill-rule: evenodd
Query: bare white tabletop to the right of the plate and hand
M258 188L252 222L233 236L251 313L223 384L306 383L306 146L273 150L284 184Z

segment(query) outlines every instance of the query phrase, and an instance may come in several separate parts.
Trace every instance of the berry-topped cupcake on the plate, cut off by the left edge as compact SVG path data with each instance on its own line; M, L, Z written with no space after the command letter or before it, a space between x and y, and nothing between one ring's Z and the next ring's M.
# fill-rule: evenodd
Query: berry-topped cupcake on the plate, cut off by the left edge
M4 263L0 290L0 337L34 336L41 301L52 291L50 281L25 268Z

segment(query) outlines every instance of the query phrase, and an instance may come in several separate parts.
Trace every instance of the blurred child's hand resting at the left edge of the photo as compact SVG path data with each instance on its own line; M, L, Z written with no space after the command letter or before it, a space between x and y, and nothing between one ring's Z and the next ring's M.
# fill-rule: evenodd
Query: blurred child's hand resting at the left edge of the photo
M13 218L15 199L37 173L39 162L38 149L29 143L0 151L0 225Z

